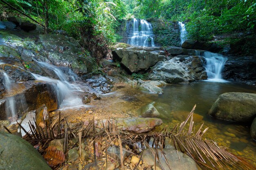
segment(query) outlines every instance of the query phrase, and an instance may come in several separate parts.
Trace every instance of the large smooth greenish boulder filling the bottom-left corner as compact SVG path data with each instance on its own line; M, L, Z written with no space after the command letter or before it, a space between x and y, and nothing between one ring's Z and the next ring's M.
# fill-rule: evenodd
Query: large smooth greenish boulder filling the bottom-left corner
M24 139L0 132L0 169L51 170L45 159Z

